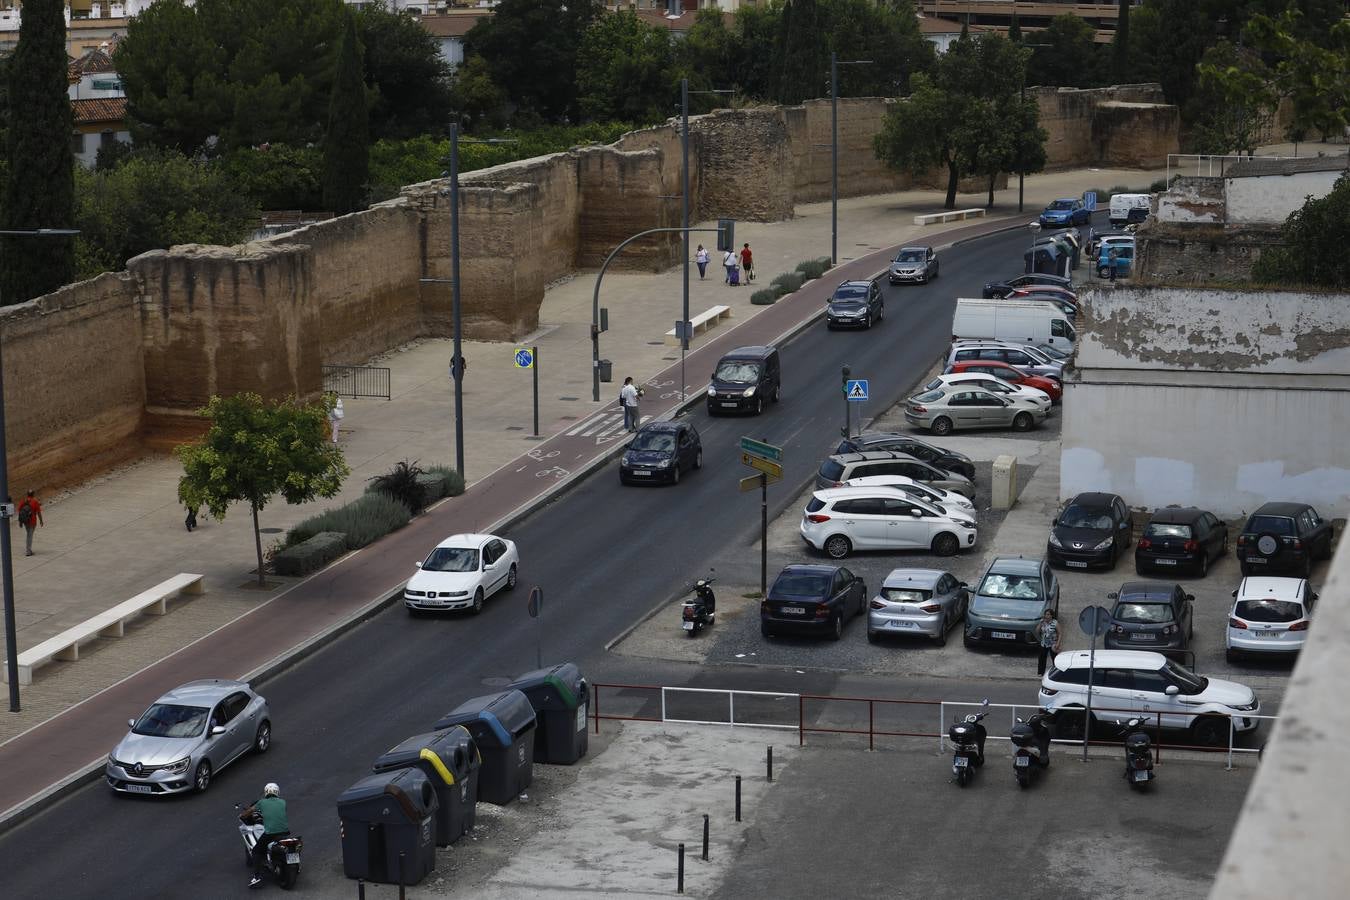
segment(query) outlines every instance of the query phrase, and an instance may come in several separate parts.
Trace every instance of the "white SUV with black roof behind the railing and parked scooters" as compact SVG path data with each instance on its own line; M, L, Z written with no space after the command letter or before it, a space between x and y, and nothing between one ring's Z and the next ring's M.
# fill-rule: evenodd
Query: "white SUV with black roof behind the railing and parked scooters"
M1088 652L1069 650L1054 657L1041 680L1041 706L1062 714L1088 704ZM1148 650L1098 650L1092 679L1092 721L1115 722L1130 715L1165 729L1187 729L1196 743L1228 741L1235 731L1257 727L1261 703L1256 692L1237 681L1207 679ZM1068 716L1057 715L1060 722ZM1094 726L1096 730L1096 726Z

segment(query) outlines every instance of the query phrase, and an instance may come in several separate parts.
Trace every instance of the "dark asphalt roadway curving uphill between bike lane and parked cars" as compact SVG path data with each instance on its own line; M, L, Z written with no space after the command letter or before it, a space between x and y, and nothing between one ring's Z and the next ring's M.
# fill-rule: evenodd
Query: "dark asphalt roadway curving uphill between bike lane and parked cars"
M180 897L192 885L200 896L243 895L232 804L256 797L265 781L282 785L292 828L305 837L305 865L339 865L333 801L375 756L535 668L540 642L545 660L608 668L605 642L652 598L672 595L707 560L753 540L759 497L736 490L745 474L738 439L784 448L784 483L770 493L776 514L838 437L840 366L867 378L868 406L884 410L945 349L954 298L979 297L984 281L1017 271L1025 244L1015 231L946 251L937 282L886 287L886 321L871 332L807 329L782 348L782 403L759 418L691 413L705 468L678 487L624 488L603 470L516 528L509 537L521 548L522 587L545 592L541 621L525 615L525 590L489 600L478 618L410 619L397 606L377 615L262 685L275 735L266 758L246 757L201 796L142 800L101 784L73 793L0 838L5 893ZM724 676L740 677L737 669ZM302 874L297 892L319 891L305 887Z

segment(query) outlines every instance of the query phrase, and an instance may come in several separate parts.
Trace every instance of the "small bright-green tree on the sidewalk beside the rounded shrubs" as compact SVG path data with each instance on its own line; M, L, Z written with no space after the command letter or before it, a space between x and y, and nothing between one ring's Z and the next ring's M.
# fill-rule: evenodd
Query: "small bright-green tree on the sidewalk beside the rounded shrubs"
M211 420L207 436L174 451L182 461L178 501L184 506L205 506L212 518L224 519L232 503L248 503L259 586L266 579L258 513L277 494L288 503L333 497L351 474L342 451L328 439L332 402L266 401L258 394L212 397L201 410Z

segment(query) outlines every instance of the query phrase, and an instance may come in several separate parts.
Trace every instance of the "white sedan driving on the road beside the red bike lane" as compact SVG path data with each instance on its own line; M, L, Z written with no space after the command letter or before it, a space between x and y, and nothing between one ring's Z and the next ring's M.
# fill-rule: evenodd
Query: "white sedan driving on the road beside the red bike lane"
M404 606L421 610L483 611L483 600L516 587L516 542L495 534L451 534L436 545L404 588Z

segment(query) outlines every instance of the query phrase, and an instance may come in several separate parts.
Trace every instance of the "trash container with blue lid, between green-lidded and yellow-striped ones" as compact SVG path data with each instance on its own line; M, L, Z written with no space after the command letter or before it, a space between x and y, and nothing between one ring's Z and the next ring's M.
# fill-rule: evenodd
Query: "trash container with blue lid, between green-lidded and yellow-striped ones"
M533 780L535 710L520 691L475 696L440 716L437 731L463 725L474 737L482 768L478 799L506 806Z

